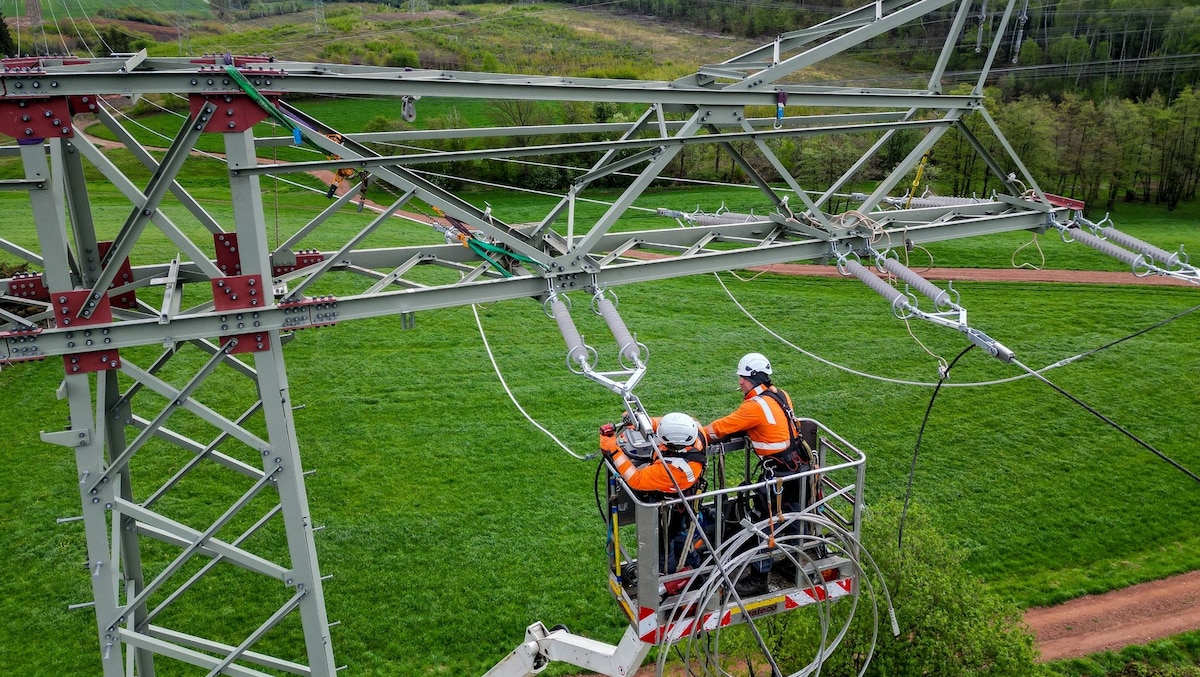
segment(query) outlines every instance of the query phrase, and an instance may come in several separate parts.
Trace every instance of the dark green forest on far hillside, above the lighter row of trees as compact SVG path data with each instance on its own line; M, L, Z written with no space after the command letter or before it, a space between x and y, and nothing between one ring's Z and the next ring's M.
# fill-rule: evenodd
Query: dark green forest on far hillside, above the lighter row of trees
M452 0L443 0L452 1ZM599 0L596 0L599 2ZM743 37L773 38L856 8L860 0L622 0L617 10L649 14ZM952 71L983 66L1006 2L976 0ZM871 40L856 55L895 68L928 71L953 26L958 4ZM1026 0L1002 35L994 66L1009 73L997 86L1008 98L1080 92L1140 101L1168 100L1200 84L1200 6L1195 0Z

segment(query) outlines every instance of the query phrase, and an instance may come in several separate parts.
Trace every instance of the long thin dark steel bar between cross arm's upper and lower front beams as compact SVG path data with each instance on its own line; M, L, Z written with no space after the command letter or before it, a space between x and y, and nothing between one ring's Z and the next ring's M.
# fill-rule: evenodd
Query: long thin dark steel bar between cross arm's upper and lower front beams
M959 97L964 101L971 100L978 103L974 96ZM966 106L971 108L973 106ZM286 174L311 172L313 169L335 169L338 167L356 168L386 168L409 167L414 164L430 164L434 162L461 162L468 160L494 160L505 157L523 157L530 155L564 155L588 151L613 151L644 148L678 148L683 145L700 145L710 143L730 143L740 140L770 140L775 138L815 137L841 133L865 133L890 130L942 127L950 122L944 118L930 120L899 120L888 122L864 122L857 125L816 126L799 130L754 130L743 132L720 132L708 134L674 136L674 137L650 137L636 139L619 139L607 142L582 142L552 145L526 145L515 148L484 149L484 150L458 150L458 151L431 151L419 155L382 155L377 157L343 157L342 160L314 160L306 162L290 162L282 164L257 164L239 167L230 164L229 174L234 176L260 175L260 174Z

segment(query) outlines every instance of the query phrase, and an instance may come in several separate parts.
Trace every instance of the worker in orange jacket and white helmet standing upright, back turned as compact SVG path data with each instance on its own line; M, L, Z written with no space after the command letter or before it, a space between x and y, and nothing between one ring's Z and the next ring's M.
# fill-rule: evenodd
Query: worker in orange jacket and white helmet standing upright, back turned
M792 419L792 399L770 382L770 361L762 353L748 353L738 361L738 388L742 405L727 417L719 418L704 429L710 441L733 435L745 435L750 448L758 456L762 479L782 478L808 471L811 460L806 453L797 450L799 429ZM803 509L800 483L785 483L781 503L784 511L798 513ZM768 496L767 502L770 502ZM769 559L756 563L738 582L738 593L761 594L767 592Z

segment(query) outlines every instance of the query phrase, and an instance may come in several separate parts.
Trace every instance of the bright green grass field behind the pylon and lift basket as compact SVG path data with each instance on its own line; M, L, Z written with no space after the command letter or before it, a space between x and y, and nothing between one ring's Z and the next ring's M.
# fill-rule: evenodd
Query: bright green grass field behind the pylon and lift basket
M188 173L197 196L226 218L229 205L216 188L204 187L210 172L211 182L220 182L220 170L188 162L197 162ZM286 235L324 198L283 190ZM652 193L646 202L689 208L721 198L744 209L734 200L745 194ZM270 203L270 193L265 199ZM498 214L535 214L535 206L518 204L528 198L497 192L472 199L487 199ZM124 211L115 203L106 206L112 198L102 191L92 202L115 228ZM5 204L10 214L19 209L14 197L5 196ZM1117 216L1122 227L1160 246L1186 241L1194 248L1196 230L1188 218ZM13 218L6 236L30 244L31 229L23 230L22 222ZM331 221L328 241L344 238L355 223L353 214ZM416 226L389 233L394 242L428 236ZM947 242L936 263L1004 266L1021 241ZM1078 245L1044 246L1049 265L1109 268ZM140 256L169 257L172 247L150 239ZM755 317L826 359L890 378L936 378L935 360L858 282L770 274L749 282L721 278ZM1034 369L1200 302L1193 288L955 287L973 324ZM865 379L793 352L743 316L713 276L617 292L623 317L650 348L652 369L638 393L652 412L684 409L704 420L725 413L738 399L732 366L742 353L763 351L802 412L868 451L869 499L902 495L930 388ZM586 300L576 299L576 307ZM480 316L518 401L572 449L590 451L595 427L619 414L616 399L566 371L563 341L536 304L494 304ZM608 354L602 323L586 312L576 319L588 342ZM1189 376L1200 365L1198 322L1200 313L1186 316L1048 377L1198 468ZM946 330L914 325L912 331L946 359L966 346ZM310 502L314 521L326 526L318 552L323 571L335 576L326 599L331 619L342 621L334 633L340 663L367 675L479 673L536 619L600 640L619 636L620 613L602 587L594 465L564 454L508 402L470 308L421 313L407 331L396 319L373 319L301 332L286 352L292 397L305 406L296 412L305 465L318 471L308 479ZM151 351L127 353L138 364L152 359ZM6 418L10 474L0 490L0 531L7 535L0 561L13 571L0 582L0 610L19 621L0 631L0 646L2 663L26 673L86 673L96 665L90 612L66 611L89 598L82 528L54 523L78 511L73 460L37 441L38 430L65 420L64 405L53 397L60 369L47 360L0 372L5 406L19 412ZM952 382L1018 373L973 351ZM151 460L163 472L175 462L169 455ZM208 483L215 481L202 475L194 491L212 490ZM1196 568L1195 491L1182 474L1033 379L943 389L914 478L914 499L970 550L972 570L1024 605ZM229 585L239 591L248 583ZM241 606L205 613L196 622L235 625L254 617ZM295 637L283 630L269 640L288 645Z

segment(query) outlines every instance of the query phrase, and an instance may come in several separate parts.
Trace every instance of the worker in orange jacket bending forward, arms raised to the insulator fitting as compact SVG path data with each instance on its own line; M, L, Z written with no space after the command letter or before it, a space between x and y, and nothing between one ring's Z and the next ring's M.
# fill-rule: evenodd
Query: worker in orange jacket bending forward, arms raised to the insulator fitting
M600 432L600 451L604 457L634 491L661 495L655 499L676 498L680 491L685 496L695 493L697 484L704 477L707 462L704 451L707 442L700 421L688 414L672 412L662 418L652 419L650 424L661 444L649 462L642 466L635 465L620 448L618 435L622 433L617 433L610 426L605 426ZM668 514L662 532L665 547L660 550L659 567L664 573L682 570L683 565L695 568L700 563L696 544L702 543L696 528L701 526L686 528L686 511L679 505L666 510ZM689 533L692 534L691 538ZM686 555L680 562L684 551Z

